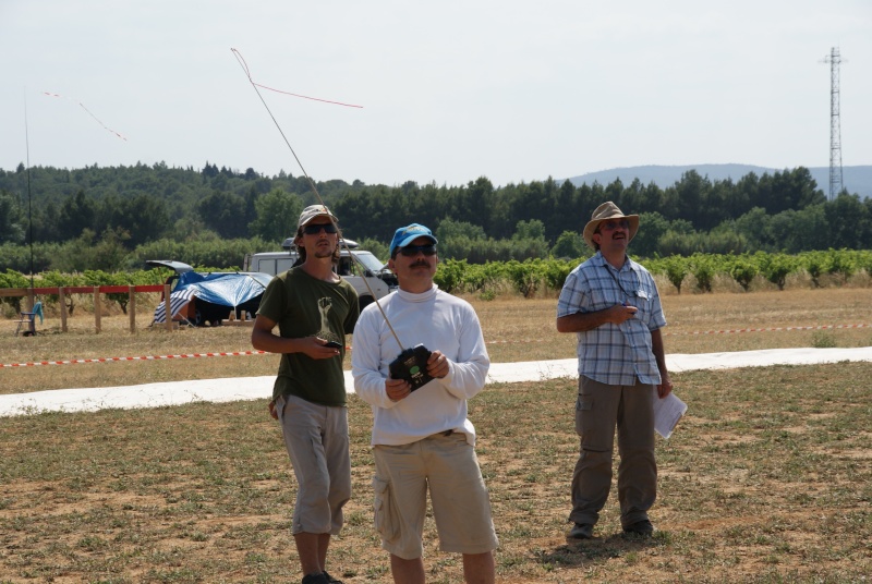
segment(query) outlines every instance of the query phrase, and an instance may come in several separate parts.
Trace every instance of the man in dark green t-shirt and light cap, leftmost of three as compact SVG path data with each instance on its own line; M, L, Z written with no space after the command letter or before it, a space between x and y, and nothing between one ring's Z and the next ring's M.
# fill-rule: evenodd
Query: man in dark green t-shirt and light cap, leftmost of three
M294 238L302 264L272 279L252 330L255 349L281 353L269 413L281 423L299 485L291 532L304 584L339 582L325 570L327 548L351 498L342 360L360 307L334 271L339 238L327 207L303 209Z

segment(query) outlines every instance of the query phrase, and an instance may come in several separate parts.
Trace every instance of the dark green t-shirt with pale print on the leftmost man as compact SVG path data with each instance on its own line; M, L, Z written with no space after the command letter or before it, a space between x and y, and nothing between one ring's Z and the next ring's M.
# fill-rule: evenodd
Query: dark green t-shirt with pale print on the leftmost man
M282 354L272 398L290 394L322 405L346 405L346 334L354 331L360 315L354 287L346 280L318 280L302 267L291 268L269 282L257 314L278 323L283 338L319 337L342 345L332 358Z

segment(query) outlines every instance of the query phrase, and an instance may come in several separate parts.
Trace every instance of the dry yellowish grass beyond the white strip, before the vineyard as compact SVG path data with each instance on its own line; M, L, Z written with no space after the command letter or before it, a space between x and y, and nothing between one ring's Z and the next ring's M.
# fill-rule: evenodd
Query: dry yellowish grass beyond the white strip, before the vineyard
M479 313L495 363L574 356L574 336L555 330L554 299L468 300ZM666 350L668 353L711 353L815 345L869 346L872 345L869 306L872 306L872 288L668 294L664 296L669 321L665 329ZM858 324L865 327L692 334L712 330ZM126 316L104 316L102 331L95 334L93 315L78 313L69 326L70 332L60 333L58 318L49 316L40 334L23 338L13 334L13 320L0 320L0 363L251 351L251 329L244 326L182 328L167 332L162 327L149 328L147 323L140 323L137 331L130 333ZM0 393L274 375L276 368L274 355L3 367Z

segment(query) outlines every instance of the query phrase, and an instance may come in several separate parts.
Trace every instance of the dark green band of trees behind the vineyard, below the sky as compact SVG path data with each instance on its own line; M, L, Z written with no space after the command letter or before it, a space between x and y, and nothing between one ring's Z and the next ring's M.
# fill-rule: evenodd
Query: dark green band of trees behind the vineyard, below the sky
M313 183L346 236L379 256L397 227L415 221L436 230L446 258L580 257L580 233L604 200L641 216L631 246L640 257L872 248L872 199L843 192L827 200L803 167L735 182L689 171L665 188L552 178L495 186L485 177L459 186ZM209 162L201 170L19 165L0 170L0 270L136 269L150 258L240 266L245 253L279 250L317 200L304 177Z

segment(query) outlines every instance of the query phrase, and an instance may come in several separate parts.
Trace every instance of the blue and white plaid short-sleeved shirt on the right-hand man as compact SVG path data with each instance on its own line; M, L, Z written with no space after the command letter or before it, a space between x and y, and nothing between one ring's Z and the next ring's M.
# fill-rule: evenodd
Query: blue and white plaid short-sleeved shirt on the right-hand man
M661 382L651 346L651 331L666 326L657 285L651 273L630 259L616 270L603 255L579 265L567 276L557 317L592 313L626 302L639 312L621 325L606 323L578 332L579 375L610 386Z

